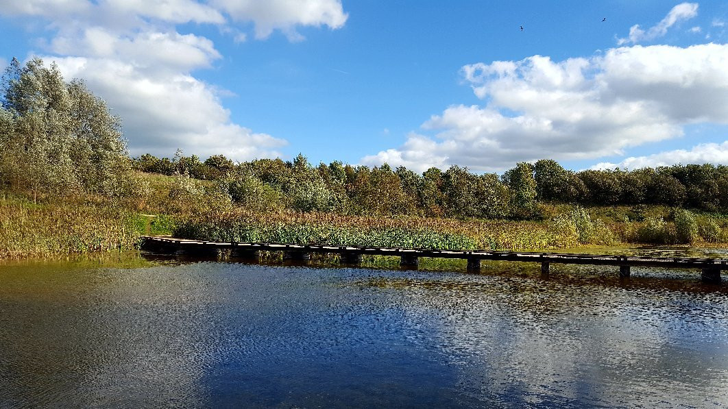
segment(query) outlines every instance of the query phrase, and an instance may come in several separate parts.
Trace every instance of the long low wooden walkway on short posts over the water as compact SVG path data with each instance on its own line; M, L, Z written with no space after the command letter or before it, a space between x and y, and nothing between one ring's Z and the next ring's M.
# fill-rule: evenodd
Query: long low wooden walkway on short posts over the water
M480 261L525 261L541 263L541 271L548 274L551 263L618 266L620 277L630 277L630 267L660 267L665 269L700 269L703 282L721 282L721 271L728 270L728 259L644 257L638 255L595 255L569 253L534 253L500 250L432 250L400 247L363 247L336 245L293 245L280 243L206 242L171 237L143 237L143 249L160 253L219 253L231 251L241 257L255 258L261 251L280 251L289 260L308 260L312 253L330 253L341 256L348 264L361 262L363 255L393 255L400 264L416 268L421 257L460 258L467 260L467 269L477 271Z

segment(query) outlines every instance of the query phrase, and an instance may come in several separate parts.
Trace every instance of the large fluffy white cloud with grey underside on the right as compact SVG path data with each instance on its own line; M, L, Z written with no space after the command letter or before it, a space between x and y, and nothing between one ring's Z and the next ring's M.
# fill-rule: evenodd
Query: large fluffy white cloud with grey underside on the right
M365 164L417 170L461 164L504 170L542 158L589 159L683 135L683 125L728 124L728 44L633 46L590 58L462 68L484 106L451 106L397 149Z

